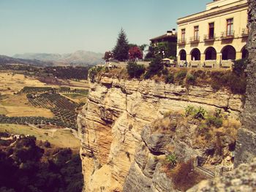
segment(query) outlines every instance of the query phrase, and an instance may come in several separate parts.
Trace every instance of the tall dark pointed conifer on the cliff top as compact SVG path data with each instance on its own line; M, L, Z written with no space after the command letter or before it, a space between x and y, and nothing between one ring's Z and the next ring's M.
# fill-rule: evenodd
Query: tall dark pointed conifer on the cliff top
M121 28L121 31L118 34L116 46L113 49L113 56L118 61L125 61L129 57L128 51L129 51L129 44L128 44L127 35L125 34L124 29Z

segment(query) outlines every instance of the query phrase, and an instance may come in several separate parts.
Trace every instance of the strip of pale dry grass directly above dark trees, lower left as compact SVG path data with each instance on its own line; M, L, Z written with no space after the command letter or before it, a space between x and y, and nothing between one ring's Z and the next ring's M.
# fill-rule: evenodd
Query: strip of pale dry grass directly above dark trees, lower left
M37 140L50 142L57 147L70 147L78 149L80 142L74 137L69 129L40 129L30 126L21 126L15 124L0 124L0 132L9 132L11 134L34 135Z

